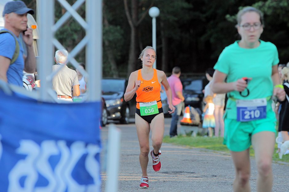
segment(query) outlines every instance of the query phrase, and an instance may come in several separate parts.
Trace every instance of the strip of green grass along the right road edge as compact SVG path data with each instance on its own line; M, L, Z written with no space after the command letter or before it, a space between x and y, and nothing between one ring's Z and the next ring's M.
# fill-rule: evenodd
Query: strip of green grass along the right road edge
M221 137L172 137L165 136L163 139L164 143L171 143L174 145L183 145L187 147L193 147L193 148L202 148L202 149L210 149L215 151L222 151L222 152L228 152L226 145L223 145L223 138ZM277 151L277 144L275 144L275 151ZM273 161L282 161L289 163L289 154L283 155L282 160L279 159L278 153L273 154ZM250 147L250 156L254 157L255 152L252 147Z

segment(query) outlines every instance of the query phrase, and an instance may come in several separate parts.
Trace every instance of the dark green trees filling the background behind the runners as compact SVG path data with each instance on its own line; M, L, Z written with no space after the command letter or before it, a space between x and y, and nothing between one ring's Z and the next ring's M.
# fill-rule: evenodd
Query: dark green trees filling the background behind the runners
M35 0L24 1L35 6ZM71 5L76 2L67 1ZM164 72L170 73L174 66L180 66L183 72L204 73L214 66L224 47L240 39L235 28L236 14L244 6L254 6L264 13L261 39L276 45L280 63L289 61L288 0L102 1L103 76L128 77L141 68L137 57L144 47L152 45L152 18L147 14L151 6L160 9L156 18L157 69ZM85 5L77 12L85 18ZM65 9L55 1L55 22L64 13ZM72 17L55 34L68 51L84 35L85 31ZM85 62L85 50L76 59Z

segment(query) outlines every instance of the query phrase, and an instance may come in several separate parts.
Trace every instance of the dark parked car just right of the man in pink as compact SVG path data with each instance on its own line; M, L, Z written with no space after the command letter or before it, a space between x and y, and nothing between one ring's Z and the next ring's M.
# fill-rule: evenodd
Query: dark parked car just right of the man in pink
M202 91L209 82L207 78L205 76L196 76L183 78L181 81L183 84L185 107L190 105L191 107L199 108L202 111L202 108L204 107L204 93Z

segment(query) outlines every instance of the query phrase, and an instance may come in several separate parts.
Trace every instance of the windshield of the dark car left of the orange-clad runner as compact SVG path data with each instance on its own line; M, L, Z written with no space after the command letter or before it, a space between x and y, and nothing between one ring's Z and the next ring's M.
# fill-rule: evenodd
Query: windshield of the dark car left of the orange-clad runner
M102 79L101 90L105 94L125 91L125 79Z

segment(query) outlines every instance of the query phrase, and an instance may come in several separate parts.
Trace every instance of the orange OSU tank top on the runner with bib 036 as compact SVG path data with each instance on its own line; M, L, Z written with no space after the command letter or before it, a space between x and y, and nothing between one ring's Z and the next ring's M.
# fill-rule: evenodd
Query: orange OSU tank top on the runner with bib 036
M140 88L137 89L137 102L151 102L158 101L157 108L162 107L160 102L160 83L157 78L156 69L153 69L153 76L151 80L144 80L141 76L141 69L138 70L137 80L141 80ZM140 104L137 103L137 108L140 108Z

